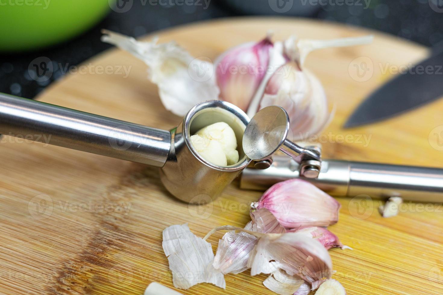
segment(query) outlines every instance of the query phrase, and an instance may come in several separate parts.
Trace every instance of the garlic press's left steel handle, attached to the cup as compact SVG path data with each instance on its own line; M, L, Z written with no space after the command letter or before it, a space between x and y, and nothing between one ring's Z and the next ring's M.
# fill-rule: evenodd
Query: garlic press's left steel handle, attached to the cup
M0 93L0 134L162 167L171 133Z

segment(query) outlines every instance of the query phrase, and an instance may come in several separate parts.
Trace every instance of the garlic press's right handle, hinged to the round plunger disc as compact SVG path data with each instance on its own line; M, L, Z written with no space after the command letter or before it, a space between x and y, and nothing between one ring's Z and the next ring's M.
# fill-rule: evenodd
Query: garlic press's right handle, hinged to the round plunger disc
M265 190L280 181L300 178L335 196L400 196L416 202L443 202L443 169L353 161L323 160L317 178L300 176L300 165L274 156L265 170L246 168L240 188Z

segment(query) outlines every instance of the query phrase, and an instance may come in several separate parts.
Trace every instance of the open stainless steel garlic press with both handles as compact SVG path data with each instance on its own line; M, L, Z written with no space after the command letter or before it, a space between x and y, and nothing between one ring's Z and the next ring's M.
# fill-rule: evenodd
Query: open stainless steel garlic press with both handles
M190 144L197 130L225 122L237 138L239 161L216 166ZM0 133L27 134L51 145L160 167L160 179L185 202L215 199L241 172L241 188L264 189L289 178L311 181L332 195L400 195L414 201L443 201L443 169L321 160L320 150L289 141L288 114L266 107L249 120L221 100L194 106L179 126L159 130L35 100L0 94ZM30 138L30 136L34 136ZM273 156L281 150L288 156ZM247 168L248 167L248 168Z

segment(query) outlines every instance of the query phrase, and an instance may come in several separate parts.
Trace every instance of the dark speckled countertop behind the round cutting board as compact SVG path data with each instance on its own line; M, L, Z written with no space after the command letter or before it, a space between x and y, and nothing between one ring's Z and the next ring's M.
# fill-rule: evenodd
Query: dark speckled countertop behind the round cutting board
M111 11L95 27L69 42L35 52L0 55L0 92L33 98L51 82L62 77L66 66L78 65L110 48L109 44L100 41L100 30L103 28L139 37L152 31L206 19L282 15L269 7L272 1L285 3L284 0L269 0L269 4L268 1L259 0L209 0L206 7L207 1L199 1L198 4L195 2L198 0L191 0L195 2L194 5L176 5L174 0L163 2L173 5L150 5L149 1L144 0L129 1L133 3L129 11ZM433 46L443 40L443 8L432 9L428 0L349 0L351 5L340 5L344 0L300 1L303 5L299 10L288 11L287 14L300 14L302 9L303 16L384 31L425 46ZM297 5L301 4L294 2L294 8ZM36 81L39 79L30 77L28 66L35 58L43 57L52 61L54 72L49 80Z

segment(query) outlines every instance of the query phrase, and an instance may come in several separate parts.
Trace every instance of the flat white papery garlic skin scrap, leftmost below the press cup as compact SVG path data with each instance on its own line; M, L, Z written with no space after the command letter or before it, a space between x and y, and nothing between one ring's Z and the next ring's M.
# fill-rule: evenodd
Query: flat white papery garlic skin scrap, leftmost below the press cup
M191 233L187 224L165 228L162 245L174 287L189 289L199 283L226 287L223 274L212 267L214 253L211 244Z

